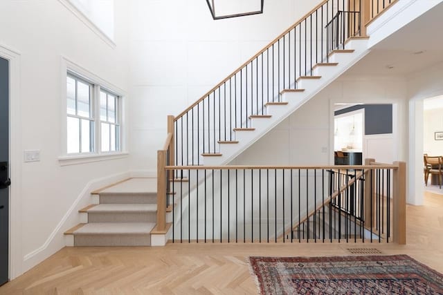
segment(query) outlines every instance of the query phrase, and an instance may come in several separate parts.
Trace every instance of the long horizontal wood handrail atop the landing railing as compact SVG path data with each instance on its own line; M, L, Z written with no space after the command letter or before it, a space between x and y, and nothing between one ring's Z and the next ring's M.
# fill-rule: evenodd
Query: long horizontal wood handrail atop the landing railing
M166 170L235 170L235 169L394 169L398 166L395 164L381 165L313 165L313 166L272 166L272 165L226 165L226 166L165 166Z

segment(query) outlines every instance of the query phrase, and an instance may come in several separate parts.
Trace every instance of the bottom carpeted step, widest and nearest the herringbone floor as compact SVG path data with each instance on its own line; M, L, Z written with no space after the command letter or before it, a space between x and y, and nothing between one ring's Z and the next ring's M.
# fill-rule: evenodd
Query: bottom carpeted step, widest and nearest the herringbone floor
M152 222L88 223L73 232L74 246L150 246Z

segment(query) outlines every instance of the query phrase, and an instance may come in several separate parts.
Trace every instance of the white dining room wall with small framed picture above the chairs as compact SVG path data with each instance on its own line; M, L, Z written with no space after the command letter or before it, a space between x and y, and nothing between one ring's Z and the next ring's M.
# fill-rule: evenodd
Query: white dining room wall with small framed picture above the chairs
M443 132L443 108L424 110L423 153L443 155L443 140L435 140L435 132Z

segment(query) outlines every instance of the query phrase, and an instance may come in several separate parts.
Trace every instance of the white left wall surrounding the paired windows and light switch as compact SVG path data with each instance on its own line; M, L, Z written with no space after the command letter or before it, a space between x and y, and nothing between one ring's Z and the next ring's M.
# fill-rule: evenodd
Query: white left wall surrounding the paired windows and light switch
M66 216L93 180L106 182L129 169L128 159L104 160L61 166L62 57L75 62L123 92L128 89L127 5L116 0L115 44L99 37L61 1L0 2L0 46L17 53L19 92L17 113L12 114L15 131L12 170L12 228L14 251L11 278L25 272L64 246L62 232L78 222L77 208ZM128 99L129 97L127 97ZM17 118L21 120L17 121ZM16 137L20 137L17 140ZM37 149L39 162L23 162L23 151ZM86 197L87 194L86 194ZM60 224L63 218L68 222ZM60 226L60 228L57 228ZM55 234L56 233L56 234ZM55 234L55 235L54 235ZM53 237L53 239L52 239Z

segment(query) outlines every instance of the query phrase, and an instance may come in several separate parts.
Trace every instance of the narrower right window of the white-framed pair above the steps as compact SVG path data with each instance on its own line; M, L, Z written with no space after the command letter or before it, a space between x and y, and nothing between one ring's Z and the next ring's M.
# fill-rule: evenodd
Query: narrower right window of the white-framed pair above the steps
M100 91L100 132L102 151L119 151L118 97Z

